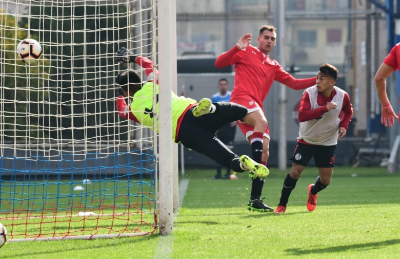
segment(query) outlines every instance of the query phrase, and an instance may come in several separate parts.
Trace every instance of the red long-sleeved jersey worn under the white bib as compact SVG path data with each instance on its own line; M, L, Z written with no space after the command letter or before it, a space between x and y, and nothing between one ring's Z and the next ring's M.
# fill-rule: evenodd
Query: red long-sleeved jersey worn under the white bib
M326 104L332 101L336 93L337 91L335 89L333 89L332 94L329 97L325 97L321 93L318 93L317 104L322 107L311 109L310 97L308 93L305 91L298 108L298 120L300 122L304 122L323 116L325 113L328 112ZM343 98L342 110L341 113L339 114L339 118L341 118L339 127L343 127L347 131L352 116L353 116L353 106L351 105L349 95L345 93L345 96ZM308 144L302 139L298 140L297 142Z

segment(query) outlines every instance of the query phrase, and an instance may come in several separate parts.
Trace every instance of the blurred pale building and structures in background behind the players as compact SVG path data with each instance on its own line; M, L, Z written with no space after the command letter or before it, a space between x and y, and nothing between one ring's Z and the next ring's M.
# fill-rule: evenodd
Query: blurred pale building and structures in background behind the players
M232 89L233 68L216 69L213 65L216 57L232 48L245 33L253 34L252 45L257 46L259 27L275 25L277 2L177 0L178 92L184 85L188 97L211 97L221 77L229 80ZM390 20L387 21L382 10L387 2L398 1L286 0L285 30L277 31L285 34L284 41L277 44L284 48L286 70L295 78L315 76L324 63L338 68L336 85L349 93L354 108L347 139L372 139L374 145L390 145L385 144L390 134L380 122L381 104L374 85L375 72L390 46L387 29ZM276 49L270 53L273 59L278 59L277 55ZM391 90L396 88L394 79L388 80L388 86L395 104L397 95ZM271 142L277 141L279 132L279 87L275 83L264 102ZM295 142L298 134L296 118L302 94L303 91L287 89L288 141ZM397 131L392 132L396 134ZM238 133L236 141L245 142L245 139Z

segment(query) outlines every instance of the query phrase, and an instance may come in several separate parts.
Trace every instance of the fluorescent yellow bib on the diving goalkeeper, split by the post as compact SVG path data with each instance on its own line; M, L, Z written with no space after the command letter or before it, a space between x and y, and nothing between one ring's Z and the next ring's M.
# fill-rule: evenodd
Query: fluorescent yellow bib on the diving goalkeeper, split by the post
M156 101L157 107L156 112L158 114L158 85L156 85ZM185 113L189 106L196 103L196 100L191 98L185 98L183 96L178 97L171 92L172 99L172 140L176 140L176 130L178 127L178 120L181 115ZM138 122L154 130L154 113L153 113L153 82L147 82L143 85L141 90L138 90L133 95L133 100L130 105L133 116L136 117ZM159 132L159 124L157 120L157 132Z

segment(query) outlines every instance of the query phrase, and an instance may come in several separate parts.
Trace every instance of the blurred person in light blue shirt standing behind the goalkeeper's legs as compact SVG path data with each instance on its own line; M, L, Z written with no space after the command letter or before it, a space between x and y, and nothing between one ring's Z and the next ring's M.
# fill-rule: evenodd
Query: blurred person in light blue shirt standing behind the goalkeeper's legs
M226 78L221 78L218 81L218 93L214 94L211 98L211 102L229 102L231 99L231 91L228 91L229 83ZM236 121L226 124L222 126L217 132L217 138L224 143L229 150L233 149L233 140L236 134ZM214 179L237 179L236 172L233 172L231 175L230 168L227 168L226 174L222 176L222 168L223 165L217 164L217 173L214 176Z

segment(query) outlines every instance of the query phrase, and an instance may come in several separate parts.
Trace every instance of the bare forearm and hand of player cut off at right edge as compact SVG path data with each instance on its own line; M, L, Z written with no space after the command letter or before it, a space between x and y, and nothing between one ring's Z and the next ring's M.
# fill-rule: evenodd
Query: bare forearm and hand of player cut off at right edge
M385 127L391 127L394 123L394 118L398 119L393 111L392 105L388 95L386 93L386 79L394 71L394 69L385 63L382 63L375 75L375 87L376 93L378 95L379 101L381 101L381 123L385 124Z

